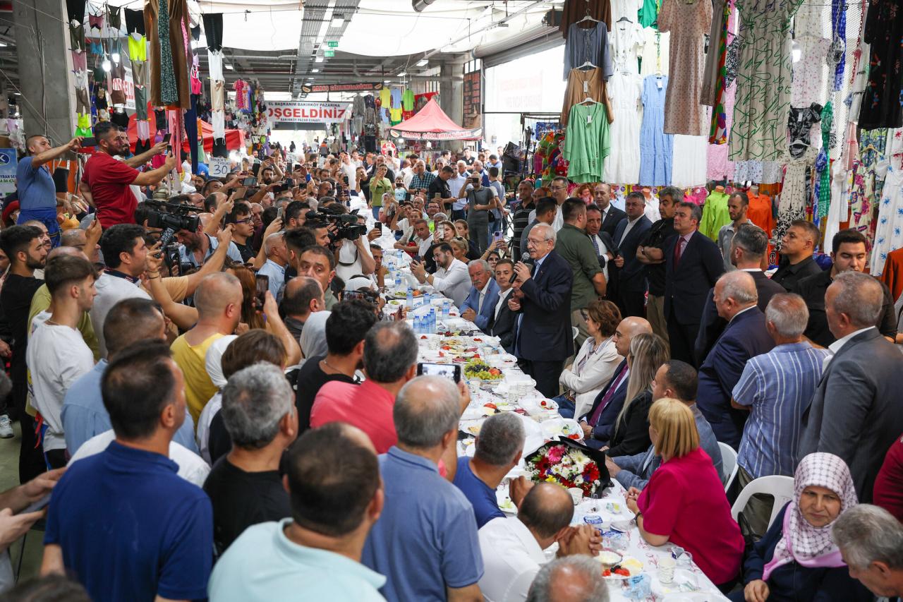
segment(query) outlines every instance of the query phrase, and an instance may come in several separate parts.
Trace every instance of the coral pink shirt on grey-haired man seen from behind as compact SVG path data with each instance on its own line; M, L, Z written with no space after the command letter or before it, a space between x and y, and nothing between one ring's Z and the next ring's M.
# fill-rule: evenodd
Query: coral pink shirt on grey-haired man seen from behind
M347 422L367 433L377 454L385 454L398 442L392 408L395 395L374 381L359 385L331 381L324 384L313 400L311 428L330 422Z

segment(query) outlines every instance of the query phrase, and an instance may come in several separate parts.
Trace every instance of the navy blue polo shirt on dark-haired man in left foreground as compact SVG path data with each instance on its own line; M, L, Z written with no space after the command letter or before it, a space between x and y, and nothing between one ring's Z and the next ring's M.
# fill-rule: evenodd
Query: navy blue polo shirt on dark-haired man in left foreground
M53 488L44 545L94 602L207 597L213 511L166 456L116 441Z

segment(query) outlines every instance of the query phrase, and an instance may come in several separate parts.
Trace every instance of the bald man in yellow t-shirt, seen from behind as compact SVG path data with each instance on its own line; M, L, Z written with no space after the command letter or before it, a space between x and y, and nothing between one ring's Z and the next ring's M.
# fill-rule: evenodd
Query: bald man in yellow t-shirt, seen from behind
M233 334L241 317L241 283L227 272L211 274L194 292L198 322L172 343L172 360L185 377L185 401L191 419L198 423L204 409L217 392L205 367L209 346L226 334Z

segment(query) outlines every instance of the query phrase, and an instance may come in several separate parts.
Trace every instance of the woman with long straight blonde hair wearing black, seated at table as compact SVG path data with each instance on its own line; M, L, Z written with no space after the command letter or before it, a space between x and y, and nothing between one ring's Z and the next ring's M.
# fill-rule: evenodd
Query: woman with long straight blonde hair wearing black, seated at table
M657 334L638 334L630 340L626 401L615 419L609 447L603 447L609 457L633 456L649 447L652 381L668 358L668 343Z

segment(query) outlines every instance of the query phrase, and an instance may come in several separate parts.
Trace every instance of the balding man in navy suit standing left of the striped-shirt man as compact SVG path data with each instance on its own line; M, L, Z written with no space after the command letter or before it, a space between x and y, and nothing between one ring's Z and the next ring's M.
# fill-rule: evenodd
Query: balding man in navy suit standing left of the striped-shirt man
M718 278L714 299L718 315L728 325L699 369L696 403L715 437L737 449L749 413L731 408L733 388L749 359L771 351L775 342L765 328L765 315L756 306L756 282L747 272L737 270Z

